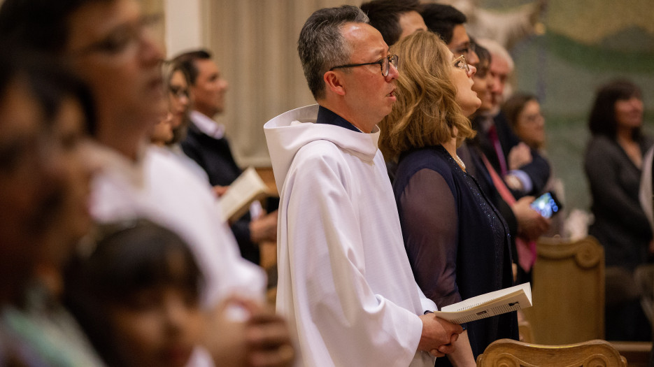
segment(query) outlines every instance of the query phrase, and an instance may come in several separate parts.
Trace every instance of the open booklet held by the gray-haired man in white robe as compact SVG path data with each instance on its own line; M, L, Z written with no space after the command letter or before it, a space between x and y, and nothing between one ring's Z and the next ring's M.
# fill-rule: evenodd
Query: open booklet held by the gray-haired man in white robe
M532 287L528 282L445 306L434 315L463 324L527 307L532 307Z

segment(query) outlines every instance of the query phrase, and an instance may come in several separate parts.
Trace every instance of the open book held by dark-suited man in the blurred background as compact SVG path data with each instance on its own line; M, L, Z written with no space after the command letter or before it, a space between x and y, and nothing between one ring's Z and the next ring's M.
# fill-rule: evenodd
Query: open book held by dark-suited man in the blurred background
M234 222L250 210L253 201L267 196L277 196L277 193L266 185L255 168L248 167L220 196L218 203L222 218Z

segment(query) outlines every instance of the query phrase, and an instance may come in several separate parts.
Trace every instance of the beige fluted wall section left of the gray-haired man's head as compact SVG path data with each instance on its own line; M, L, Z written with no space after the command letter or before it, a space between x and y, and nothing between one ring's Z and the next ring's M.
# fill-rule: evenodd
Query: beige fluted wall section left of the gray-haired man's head
M297 57L297 37L313 11L334 0L204 0L206 44L229 82L226 110L232 150L241 166L268 166L264 123L315 103Z

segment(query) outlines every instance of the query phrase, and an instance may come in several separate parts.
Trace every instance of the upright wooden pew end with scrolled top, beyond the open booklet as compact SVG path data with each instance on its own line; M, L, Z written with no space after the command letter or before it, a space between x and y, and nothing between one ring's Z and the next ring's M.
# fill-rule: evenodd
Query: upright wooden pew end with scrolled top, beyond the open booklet
M533 268L531 308L523 310L534 343L604 339L604 249L595 238L541 238Z

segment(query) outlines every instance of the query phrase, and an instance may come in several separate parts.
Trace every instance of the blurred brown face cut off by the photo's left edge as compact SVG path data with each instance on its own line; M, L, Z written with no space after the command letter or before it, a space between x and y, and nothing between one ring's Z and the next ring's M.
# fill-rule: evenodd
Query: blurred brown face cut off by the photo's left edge
M0 303L24 285L62 191L54 141L26 84L11 82L0 96Z

